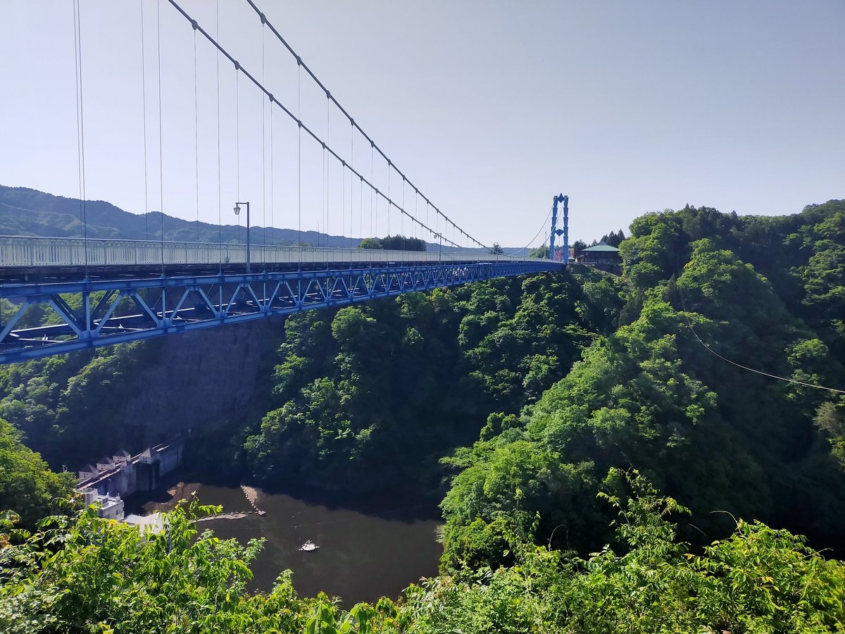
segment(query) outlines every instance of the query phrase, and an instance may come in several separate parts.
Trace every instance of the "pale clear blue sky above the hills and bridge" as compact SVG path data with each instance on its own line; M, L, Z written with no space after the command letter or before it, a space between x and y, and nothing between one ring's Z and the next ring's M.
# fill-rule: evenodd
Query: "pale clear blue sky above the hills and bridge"
M215 0L180 4L215 33ZM239 189L253 224L272 214L297 227L295 124L275 112L271 151L269 110L242 77L236 134L235 73L221 61L218 201L215 54L200 37L195 144L194 32L166 0L143 6L146 182L141 3L81 0L86 197L136 213L163 200L175 216L193 220L199 207L203 221L232 222ZM558 192L570 196L573 238L586 239L687 203L785 214L845 196L842 0L259 6L395 164L484 243L527 243ZM260 77L259 19L245 0L219 0L219 11L222 45ZM7 0L2 12L0 183L78 196L73 3ZM269 30L264 78L296 112L297 66ZM324 136L325 98L304 73L300 99ZM329 116L329 143L349 156L351 127ZM369 149L354 142L369 176ZM324 188L322 149L304 135L302 161L303 228L369 235L372 217L373 232L387 232L384 204L358 183L341 197L334 163ZM373 173L386 190L384 162ZM401 202L395 175L391 196ZM395 212L390 222L409 232Z

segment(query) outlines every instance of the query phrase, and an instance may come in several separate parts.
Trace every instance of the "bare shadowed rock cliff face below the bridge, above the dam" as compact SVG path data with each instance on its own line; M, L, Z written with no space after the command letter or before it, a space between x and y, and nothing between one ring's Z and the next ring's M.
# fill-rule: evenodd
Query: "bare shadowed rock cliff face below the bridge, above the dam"
M156 443L188 429L207 435L260 415L284 323L275 317L150 342L158 359L134 377L137 390L123 424L140 428L145 443Z

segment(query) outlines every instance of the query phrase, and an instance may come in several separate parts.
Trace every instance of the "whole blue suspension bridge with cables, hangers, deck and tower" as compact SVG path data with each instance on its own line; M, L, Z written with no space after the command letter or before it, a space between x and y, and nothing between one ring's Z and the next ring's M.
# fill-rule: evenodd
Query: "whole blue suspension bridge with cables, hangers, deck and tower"
M13 363L30 358L42 358L90 347L113 343L133 342L154 336L193 331L218 325L259 320L273 315L292 314L308 309L322 309L394 297L405 292L427 291L472 281L502 276L518 276L539 271L559 271L565 266L555 261L554 238L563 236L563 253L568 252L568 202L563 195L553 198L550 210L552 224L548 231L549 258L517 257L498 253L473 238L455 221L439 210L406 174L371 139L352 116L332 96L302 58L270 24L253 0L246 0L261 25L260 79L244 68L212 36L174 0L165 4L181 15L194 37L194 156L197 187L197 241L184 242L166 239L165 215L161 218L160 236L146 240L117 240L88 237L85 201L85 118L83 115L82 84L82 27L79 0L74 0L74 56L77 71L76 107L77 140L79 150L79 238L33 238L0 236L0 363ZM156 0L156 26L160 29L162 0ZM141 46L144 47L144 3L141 3ZM219 15L218 15L219 23ZM219 30L219 24L216 25ZM264 83L264 33L281 42L297 65L297 104L286 106ZM159 30L161 38L161 30ZM358 231L364 233L364 191L370 202L370 232L379 226L379 205L386 208L387 227L390 217L399 216L404 238L405 223L417 244L427 250L341 249L330 247L282 246L268 244L266 228L263 241L252 243L251 235L261 237L261 231L250 223L250 203L240 202L240 139L237 139L237 216L245 210L246 244L199 241L199 123L197 123L197 43L204 41L216 57L217 65L217 196L220 199L220 63L234 68L236 102L240 99L241 80L259 91L262 99L262 145L264 144L264 108L270 109L270 209L272 210L273 121L279 112L295 126L297 135L297 227L302 232L302 147L303 141L316 145L323 156L323 210L321 219L328 226L330 213L331 168L341 172L341 222L348 217L352 234L355 188L358 186ZM160 179L161 167L161 43L158 48L158 112ZM146 52L142 51L142 57ZM300 79L302 73L316 85L326 100L326 112L339 112L350 129L350 148L346 153L329 144L330 114L326 116L324 136L309 127L301 117ZM146 95L144 77L144 192L148 190ZM152 100L150 100L152 101ZM296 111L296 112L295 112ZM236 112L238 112L236 110ZM238 114L238 117L240 115ZM236 129L239 130L238 118ZM236 133L237 134L237 133ZM337 135L335 134L335 137ZM355 165L355 139L369 148L370 174ZM339 144L338 144L339 145ZM360 149L361 145L359 145ZM374 160L386 166L386 186L381 187L374 177ZM262 147L262 159L267 153ZM265 175L263 175L265 178ZM400 182L401 194L391 194L392 180ZM160 183L161 184L161 183ZM163 187L161 188L163 210ZM412 193L413 204L406 204L406 191ZM262 197L266 193L266 187ZM336 200L336 199L335 199ZM563 203L564 228L557 228L558 205ZM424 216L419 206L424 203ZM335 202L334 205L337 205ZM262 205L266 210L267 205ZM347 209L348 207L348 209ZM348 213L348 216L346 214ZM265 212L264 212L265 216ZM271 211L272 217L272 211ZM384 216L383 216L384 217ZM222 238L222 220L221 238ZM543 222L545 224L545 221ZM266 222L265 222L266 225ZM343 225L345 228L346 225ZM377 229L378 230L378 229ZM542 228L541 228L542 231ZM539 232L538 234L539 235ZM536 238L536 237L535 237ZM527 248L526 248L527 255ZM38 309L35 309L38 307ZM39 314L37 323L30 323L31 314ZM46 317L45 317L46 315Z

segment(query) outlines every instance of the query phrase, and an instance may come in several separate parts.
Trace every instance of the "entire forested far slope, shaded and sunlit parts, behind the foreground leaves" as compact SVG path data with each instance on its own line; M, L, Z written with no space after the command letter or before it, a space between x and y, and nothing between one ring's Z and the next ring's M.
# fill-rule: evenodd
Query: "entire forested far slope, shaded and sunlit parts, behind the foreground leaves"
M841 394L725 358L845 386L843 217L686 208L632 224L622 279L575 269L297 315L248 463L268 481L407 482L483 426L444 459L447 567L499 560L516 511L559 547L600 547L612 467L686 500L695 542L726 534L712 511L728 511L841 548Z

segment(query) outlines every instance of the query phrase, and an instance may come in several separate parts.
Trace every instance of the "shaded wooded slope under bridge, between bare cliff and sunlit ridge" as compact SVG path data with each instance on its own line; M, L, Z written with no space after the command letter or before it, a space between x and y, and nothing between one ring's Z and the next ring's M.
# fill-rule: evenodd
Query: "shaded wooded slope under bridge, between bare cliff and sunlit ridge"
M608 327L602 276L536 276L293 315L278 408L248 432L254 475L437 486L437 460L515 413ZM385 460L384 456L395 456Z

